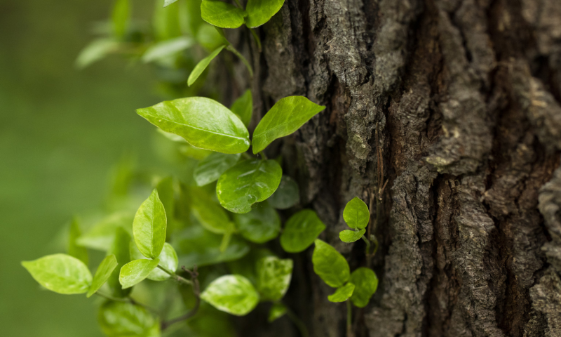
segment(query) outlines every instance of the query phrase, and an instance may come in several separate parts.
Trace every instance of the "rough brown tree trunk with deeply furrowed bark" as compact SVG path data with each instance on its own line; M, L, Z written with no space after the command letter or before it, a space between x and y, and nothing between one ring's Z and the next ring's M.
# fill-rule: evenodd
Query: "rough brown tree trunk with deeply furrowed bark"
M255 110L327 106L270 152L351 270L342 209L388 179L356 336L561 336L561 1L286 0L260 33ZM311 335L345 336L311 249L296 268Z

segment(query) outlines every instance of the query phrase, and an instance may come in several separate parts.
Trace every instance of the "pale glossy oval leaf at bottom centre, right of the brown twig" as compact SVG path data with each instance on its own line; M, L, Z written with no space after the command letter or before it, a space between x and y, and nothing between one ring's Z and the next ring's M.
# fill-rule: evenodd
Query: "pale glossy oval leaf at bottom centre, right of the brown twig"
M225 275L212 281L201 299L220 311L245 316L259 303L259 294L245 277Z

